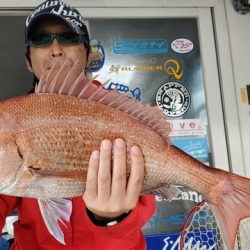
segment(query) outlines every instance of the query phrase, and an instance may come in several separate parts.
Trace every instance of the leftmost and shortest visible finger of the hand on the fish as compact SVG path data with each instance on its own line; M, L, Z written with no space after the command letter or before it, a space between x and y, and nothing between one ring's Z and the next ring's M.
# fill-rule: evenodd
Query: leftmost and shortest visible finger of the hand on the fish
M99 151L92 152L89 160L85 194L96 197L98 194L98 168L99 168Z

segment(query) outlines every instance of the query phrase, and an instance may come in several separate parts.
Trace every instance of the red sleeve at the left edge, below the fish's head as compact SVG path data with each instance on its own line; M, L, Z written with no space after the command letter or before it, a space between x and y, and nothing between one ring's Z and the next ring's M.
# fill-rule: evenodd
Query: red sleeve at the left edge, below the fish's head
M12 214L17 207L19 198L9 195L0 195L0 231L5 225L5 219Z

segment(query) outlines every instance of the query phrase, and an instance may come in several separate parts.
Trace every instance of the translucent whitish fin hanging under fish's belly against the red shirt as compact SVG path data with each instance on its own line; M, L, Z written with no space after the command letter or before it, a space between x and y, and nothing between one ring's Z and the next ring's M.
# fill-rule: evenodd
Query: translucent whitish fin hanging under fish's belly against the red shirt
M62 198L38 199L39 208L44 223L52 234L60 243L65 245L63 231L58 221L65 227L64 221L69 222L72 213L72 201Z

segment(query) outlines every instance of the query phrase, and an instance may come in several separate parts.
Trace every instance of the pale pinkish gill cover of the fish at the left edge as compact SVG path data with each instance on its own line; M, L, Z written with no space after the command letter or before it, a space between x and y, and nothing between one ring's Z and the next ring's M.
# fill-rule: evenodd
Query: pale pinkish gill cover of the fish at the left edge
M15 182L23 162L15 136L0 134L0 193Z

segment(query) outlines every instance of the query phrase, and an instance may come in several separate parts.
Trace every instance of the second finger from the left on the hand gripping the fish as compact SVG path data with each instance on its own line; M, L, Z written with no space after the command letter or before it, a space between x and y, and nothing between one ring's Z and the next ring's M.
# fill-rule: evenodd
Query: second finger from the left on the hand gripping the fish
M107 200L110 197L111 153L112 153L111 141L103 140L101 143L99 171L98 171L98 197L100 197L103 200Z

